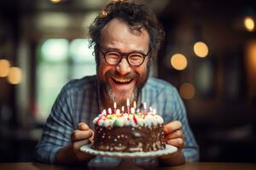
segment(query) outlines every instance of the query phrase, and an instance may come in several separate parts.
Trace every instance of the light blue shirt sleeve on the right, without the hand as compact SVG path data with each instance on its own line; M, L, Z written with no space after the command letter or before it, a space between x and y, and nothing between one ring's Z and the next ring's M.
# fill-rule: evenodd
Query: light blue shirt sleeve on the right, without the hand
M169 121L180 121L183 124L184 148L183 155L187 162L199 161L199 146L195 141L194 134L189 127L187 112L183 100L177 93L176 88L169 88L166 92L166 119ZM167 123L167 122L166 122Z

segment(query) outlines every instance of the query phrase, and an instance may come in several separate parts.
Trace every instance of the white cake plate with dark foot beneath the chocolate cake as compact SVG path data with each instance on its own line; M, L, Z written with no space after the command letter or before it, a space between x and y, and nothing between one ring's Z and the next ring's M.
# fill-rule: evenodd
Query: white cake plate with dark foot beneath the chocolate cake
M114 169L125 169L125 170L133 170L133 169L143 169L141 167L137 167L137 165L132 161L132 158L146 158L146 157L157 157L157 156L165 156L168 154L172 154L177 151L177 147L172 146L170 144L166 144L166 149L164 150L156 150L156 151L148 151L148 152L117 152L117 151L102 151L102 150L93 150L91 149L90 144L86 144L80 148L81 151L89 153L95 156L110 156L110 157L119 157L122 158L121 162Z

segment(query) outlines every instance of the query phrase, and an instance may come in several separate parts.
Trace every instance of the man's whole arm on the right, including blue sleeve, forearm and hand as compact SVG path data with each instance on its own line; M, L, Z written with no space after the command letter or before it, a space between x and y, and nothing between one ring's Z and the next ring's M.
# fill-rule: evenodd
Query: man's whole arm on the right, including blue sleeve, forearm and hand
M164 130L166 133L166 141L170 140L169 142L171 143L169 144L177 146L178 151L172 154L172 156L160 157L160 163L164 162L164 164L177 165L183 162L198 161L199 148L189 127L187 113L183 101L177 93L177 89L166 88L165 96L166 100L164 103L166 103L166 106L163 111L163 116L165 121L169 122L166 123Z

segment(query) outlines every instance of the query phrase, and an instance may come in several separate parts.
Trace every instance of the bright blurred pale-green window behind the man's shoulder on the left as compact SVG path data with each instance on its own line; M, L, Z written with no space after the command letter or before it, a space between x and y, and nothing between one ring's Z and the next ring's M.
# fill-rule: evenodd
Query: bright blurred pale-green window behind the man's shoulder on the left
M88 39L49 38L38 45L37 120L45 122L61 88L73 78L96 74Z

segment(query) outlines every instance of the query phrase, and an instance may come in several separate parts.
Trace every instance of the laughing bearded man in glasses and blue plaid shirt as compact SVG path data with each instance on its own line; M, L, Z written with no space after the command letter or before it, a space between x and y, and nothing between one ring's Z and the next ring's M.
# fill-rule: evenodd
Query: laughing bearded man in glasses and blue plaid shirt
M125 100L147 102L165 120L166 144L178 151L160 156L166 165L198 160L198 146L190 131L183 102L168 82L148 78L149 65L164 39L164 31L143 5L109 3L90 26L96 55L96 76L68 82L44 127L36 148L39 161L70 164L117 161L91 156L79 149L93 140L92 120L103 108Z

